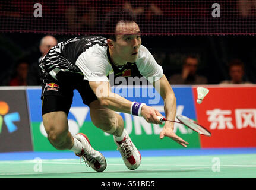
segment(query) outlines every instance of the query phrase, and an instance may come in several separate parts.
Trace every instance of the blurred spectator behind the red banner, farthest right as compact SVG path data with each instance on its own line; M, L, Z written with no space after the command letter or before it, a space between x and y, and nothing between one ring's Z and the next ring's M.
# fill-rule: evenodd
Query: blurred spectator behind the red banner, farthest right
M250 81L244 81L244 62L239 59L233 59L229 62L230 80L220 82L220 84L252 84Z

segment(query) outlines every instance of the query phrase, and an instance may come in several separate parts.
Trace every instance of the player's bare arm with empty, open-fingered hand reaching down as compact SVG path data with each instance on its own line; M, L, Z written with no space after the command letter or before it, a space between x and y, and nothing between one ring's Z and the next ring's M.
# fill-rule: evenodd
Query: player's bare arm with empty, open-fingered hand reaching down
M163 75L158 81L154 82L153 85L154 85L154 88L156 88L156 90L159 92L160 96L164 101L166 119L175 121L176 97L165 75ZM172 140L181 144L183 147L187 147L188 142L178 137L178 135L175 134L173 129L174 129L173 122L165 122L165 125L163 126L163 130L160 132L160 138L162 139L163 137L170 137L172 138Z

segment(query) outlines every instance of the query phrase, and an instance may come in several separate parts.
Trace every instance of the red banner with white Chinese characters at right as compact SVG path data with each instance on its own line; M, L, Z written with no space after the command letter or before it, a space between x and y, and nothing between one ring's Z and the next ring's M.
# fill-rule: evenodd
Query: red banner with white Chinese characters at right
M210 90L201 105L196 103L197 120L211 131L210 138L200 135L202 148L256 146L256 88L206 87Z

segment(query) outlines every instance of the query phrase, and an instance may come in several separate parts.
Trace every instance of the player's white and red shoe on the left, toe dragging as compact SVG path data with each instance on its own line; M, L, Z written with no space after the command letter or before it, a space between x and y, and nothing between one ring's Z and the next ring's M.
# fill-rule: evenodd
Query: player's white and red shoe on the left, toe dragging
M103 172L107 167L107 163L102 153L94 150L93 147L91 147L90 141L86 135L78 133L74 136L74 138L77 138L77 140L83 144L81 153L75 154L80 157L80 161L82 158L84 161L81 162L86 162L97 172Z

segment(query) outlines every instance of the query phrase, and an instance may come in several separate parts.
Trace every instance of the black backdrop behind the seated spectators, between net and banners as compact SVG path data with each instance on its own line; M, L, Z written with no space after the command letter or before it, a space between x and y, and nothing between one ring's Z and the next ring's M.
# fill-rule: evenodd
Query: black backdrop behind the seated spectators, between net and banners
M30 63L40 57L39 43L45 34L0 34L0 85L7 85L14 74L18 59ZM55 35L59 42L74 36ZM198 74L208 78L209 84L219 84L229 78L227 62L238 58L245 63L245 80L256 83L255 36L142 36L142 44L163 66L165 75L181 72L185 55L194 53L200 58Z

